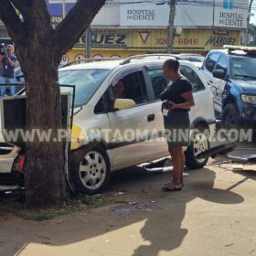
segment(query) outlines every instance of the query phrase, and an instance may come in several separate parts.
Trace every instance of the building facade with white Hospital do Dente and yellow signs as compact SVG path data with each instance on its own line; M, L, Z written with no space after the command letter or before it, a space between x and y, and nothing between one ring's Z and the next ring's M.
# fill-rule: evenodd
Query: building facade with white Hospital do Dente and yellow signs
M76 0L66 0L66 12ZM166 52L170 13L165 0L108 0L91 24L91 57L126 58ZM54 25L62 20L62 0L47 0ZM177 0L174 51L206 54L225 44L240 45L248 17L245 0ZM4 34L5 35L4 35ZM6 33L1 30L1 37ZM63 56L66 63L85 58L85 36Z

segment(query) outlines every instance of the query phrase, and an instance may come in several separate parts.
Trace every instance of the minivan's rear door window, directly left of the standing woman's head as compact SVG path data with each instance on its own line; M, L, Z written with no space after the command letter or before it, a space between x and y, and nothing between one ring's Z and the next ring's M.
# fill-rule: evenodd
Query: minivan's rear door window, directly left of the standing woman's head
M168 80L165 79L162 69L148 70L147 73L151 80L151 84L155 94L155 100L159 100L160 94L165 91Z

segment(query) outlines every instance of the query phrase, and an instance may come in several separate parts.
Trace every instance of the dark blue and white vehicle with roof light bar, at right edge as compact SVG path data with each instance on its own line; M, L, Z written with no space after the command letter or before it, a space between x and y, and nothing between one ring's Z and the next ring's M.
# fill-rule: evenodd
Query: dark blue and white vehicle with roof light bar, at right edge
M214 97L218 118L229 127L256 126L256 48L211 50L202 73Z

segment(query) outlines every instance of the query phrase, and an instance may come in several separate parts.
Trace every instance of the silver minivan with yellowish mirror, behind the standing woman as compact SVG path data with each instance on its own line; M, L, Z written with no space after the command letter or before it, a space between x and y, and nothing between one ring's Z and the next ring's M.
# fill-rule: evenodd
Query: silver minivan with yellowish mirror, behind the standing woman
M159 132L164 129L159 94L168 83L162 72L165 59L96 61L59 69L59 83L76 85L70 175L78 191L99 193L111 171L139 165L168 155L165 140L123 141L126 129ZM201 168L208 159L197 155L209 148L205 129L215 129L212 93L195 65L180 61L181 72L193 85L196 107L190 112L197 136L186 151L186 165ZM124 97L114 97L113 86L123 82ZM63 91L63 89L61 89ZM65 89L64 91L69 91ZM109 130L106 136L103 131ZM100 131L92 133L91 131ZM116 133L119 131L119 133ZM90 142L90 143L88 143ZM1 171L0 171L1 173Z

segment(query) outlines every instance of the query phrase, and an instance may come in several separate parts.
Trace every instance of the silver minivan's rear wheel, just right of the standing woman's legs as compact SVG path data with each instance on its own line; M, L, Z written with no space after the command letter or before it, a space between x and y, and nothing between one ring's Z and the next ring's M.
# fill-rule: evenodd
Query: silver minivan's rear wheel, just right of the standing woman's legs
M197 159L197 155L207 151L210 147L207 133L205 133L208 129L198 126L196 127L196 131L193 134L190 146L185 152L186 166L190 169L199 169L208 163L208 158Z

